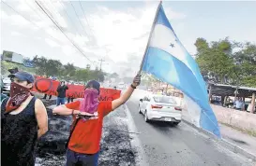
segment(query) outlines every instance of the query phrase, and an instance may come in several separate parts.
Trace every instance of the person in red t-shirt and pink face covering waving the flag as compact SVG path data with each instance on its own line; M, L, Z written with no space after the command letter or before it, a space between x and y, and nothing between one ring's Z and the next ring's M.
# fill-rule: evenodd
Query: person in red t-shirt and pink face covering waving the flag
M100 85L98 81L91 80L86 85L82 101L60 105L53 109L53 114L73 117L67 144L66 166L98 165L103 118L121 104L125 104L140 83L141 75L137 75L120 98L99 102Z

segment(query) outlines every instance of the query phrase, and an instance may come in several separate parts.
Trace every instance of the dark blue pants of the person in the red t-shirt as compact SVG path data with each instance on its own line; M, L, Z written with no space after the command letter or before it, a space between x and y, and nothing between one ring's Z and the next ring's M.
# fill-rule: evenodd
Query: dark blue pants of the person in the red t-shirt
M66 158L66 166L98 166L98 153L86 155L68 149Z

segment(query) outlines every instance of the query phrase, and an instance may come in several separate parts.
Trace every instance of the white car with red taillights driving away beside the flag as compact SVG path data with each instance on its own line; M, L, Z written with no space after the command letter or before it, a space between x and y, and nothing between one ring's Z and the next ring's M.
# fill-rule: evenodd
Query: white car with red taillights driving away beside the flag
M139 113L144 115L145 122L158 120L177 125L181 121L181 111L182 108L172 96L149 94L139 103Z

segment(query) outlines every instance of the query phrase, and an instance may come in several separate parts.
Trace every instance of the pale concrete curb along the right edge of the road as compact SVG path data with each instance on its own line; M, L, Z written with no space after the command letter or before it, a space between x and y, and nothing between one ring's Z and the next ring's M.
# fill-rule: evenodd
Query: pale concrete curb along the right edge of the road
M210 138L214 139L219 145L222 145L222 146L228 148L233 153L241 154L241 155L247 157L248 159L252 159L253 161L256 161L256 155L247 152L247 150L239 147L238 145L234 145L233 143L230 143L229 141L227 141L225 139L219 139L216 135L212 134L211 132L204 131L201 128L198 128L197 126L195 126L194 124L192 124L191 122L189 122L185 118L182 118L182 121L185 122L186 124L188 124L189 126L191 126L192 128L196 129L197 131L203 132L204 134L206 134Z

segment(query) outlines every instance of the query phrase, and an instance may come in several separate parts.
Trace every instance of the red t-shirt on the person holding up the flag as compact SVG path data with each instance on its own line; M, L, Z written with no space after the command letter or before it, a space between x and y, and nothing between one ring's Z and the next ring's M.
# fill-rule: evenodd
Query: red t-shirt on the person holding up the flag
M79 110L80 101L66 104L69 109ZM112 111L112 102L98 104L98 118L83 121L80 119L72 133L68 148L84 154L95 154L99 151L103 118Z

